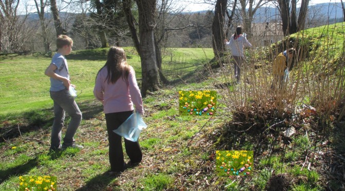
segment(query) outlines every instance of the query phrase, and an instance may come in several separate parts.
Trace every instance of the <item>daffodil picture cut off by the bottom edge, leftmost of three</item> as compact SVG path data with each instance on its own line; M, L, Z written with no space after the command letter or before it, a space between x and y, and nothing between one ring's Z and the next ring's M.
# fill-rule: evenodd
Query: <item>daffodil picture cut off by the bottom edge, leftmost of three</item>
M19 189L25 191L56 190L56 177L51 176L20 176Z

